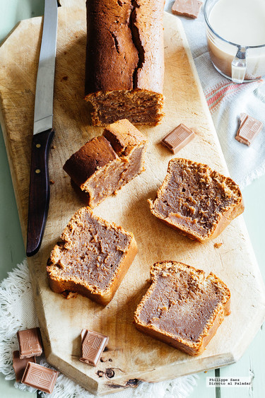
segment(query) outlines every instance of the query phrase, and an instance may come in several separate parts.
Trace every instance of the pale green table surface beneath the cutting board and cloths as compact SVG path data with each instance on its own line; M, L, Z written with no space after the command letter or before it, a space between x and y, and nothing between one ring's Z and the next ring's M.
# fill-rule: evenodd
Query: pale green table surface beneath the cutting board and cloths
M78 0L76 0L78 1ZM8 35L18 21L43 15L43 0L0 0L0 42ZM242 192L245 201L244 218L247 224L254 252L265 279L265 245L263 211L265 197L265 176L252 182ZM6 156L3 135L0 132L0 281L6 278L16 264L25 258L25 248L18 219L16 199ZM255 336L240 361L224 368L199 373L199 380L191 398L261 398L265 396L265 330ZM238 377L254 375L252 388L207 387L206 377ZM37 397L37 394L21 392L13 387L13 381L4 380L0 374L0 397ZM159 397L155 397L159 398Z

